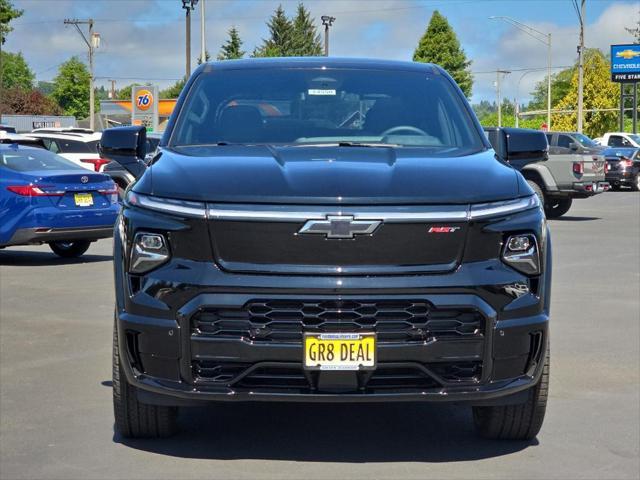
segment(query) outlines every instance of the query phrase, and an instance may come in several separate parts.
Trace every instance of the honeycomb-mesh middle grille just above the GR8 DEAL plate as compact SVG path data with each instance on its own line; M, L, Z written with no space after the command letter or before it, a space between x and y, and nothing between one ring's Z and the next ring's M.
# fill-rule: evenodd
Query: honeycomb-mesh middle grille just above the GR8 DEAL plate
M376 332L378 342L478 337L484 319L471 308L436 308L411 300L255 300L206 308L193 316L199 336L300 343L304 332Z

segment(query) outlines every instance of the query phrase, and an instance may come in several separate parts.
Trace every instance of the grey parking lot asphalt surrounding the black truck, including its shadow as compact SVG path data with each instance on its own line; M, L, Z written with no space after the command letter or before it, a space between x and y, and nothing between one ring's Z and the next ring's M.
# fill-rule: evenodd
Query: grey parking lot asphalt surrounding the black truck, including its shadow
M474 436L466 408L223 404L169 440L114 435L111 241L77 261L0 251L0 478L640 476L640 194L550 222L551 393L532 442Z

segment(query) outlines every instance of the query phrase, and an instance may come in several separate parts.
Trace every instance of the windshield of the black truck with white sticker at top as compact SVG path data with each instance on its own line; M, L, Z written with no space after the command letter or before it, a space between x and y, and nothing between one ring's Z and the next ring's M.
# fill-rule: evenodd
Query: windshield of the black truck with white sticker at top
M191 87L169 145L385 144L465 155L485 143L464 102L437 72L214 69Z

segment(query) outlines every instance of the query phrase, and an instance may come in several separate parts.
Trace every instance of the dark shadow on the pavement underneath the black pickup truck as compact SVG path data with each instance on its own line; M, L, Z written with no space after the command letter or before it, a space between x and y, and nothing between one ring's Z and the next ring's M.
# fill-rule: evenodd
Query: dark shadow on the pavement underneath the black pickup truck
M181 432L128 447L183 458L304 462L457 462L508 455L531 442L484 440L471 409L453 405L220 404L183 408Z

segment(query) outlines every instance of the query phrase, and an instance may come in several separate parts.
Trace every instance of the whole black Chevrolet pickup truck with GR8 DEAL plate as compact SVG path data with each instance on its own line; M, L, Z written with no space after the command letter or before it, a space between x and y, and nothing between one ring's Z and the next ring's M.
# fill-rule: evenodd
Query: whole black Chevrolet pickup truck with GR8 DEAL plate
M350 59L208 63L145 162L114 235L113 401L125 437L224 401L456 402L530 439L546 408L551 243L441 68ZM220 406L222 408L222 406Z

